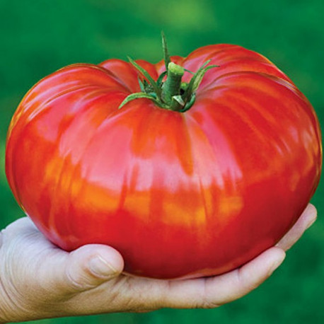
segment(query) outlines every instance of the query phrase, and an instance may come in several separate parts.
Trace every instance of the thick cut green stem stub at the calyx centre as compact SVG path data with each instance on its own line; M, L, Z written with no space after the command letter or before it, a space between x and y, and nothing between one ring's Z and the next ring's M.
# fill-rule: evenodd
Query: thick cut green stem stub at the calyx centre
M173 62L168 64L168 76L166 82L163 84L161 93L162 100L167 105L174 105L177 102L173 100L173 96L180 95L181 79L184 73L185 69L183 69L183 66Z

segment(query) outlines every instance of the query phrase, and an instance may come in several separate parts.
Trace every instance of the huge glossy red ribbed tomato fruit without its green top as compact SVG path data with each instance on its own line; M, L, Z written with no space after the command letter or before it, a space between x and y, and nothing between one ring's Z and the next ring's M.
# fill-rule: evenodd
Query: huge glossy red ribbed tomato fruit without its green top
M103 243L125 272L221 274L293 226L316 190L316 114L262 55L209 45L177 64L204 76L186 112L137 99L127 62L74 64L37 83L13 115L6 175L23 210L65 250ZM154 79L163 62L139 61ZM185 81L190 74L185 73Z

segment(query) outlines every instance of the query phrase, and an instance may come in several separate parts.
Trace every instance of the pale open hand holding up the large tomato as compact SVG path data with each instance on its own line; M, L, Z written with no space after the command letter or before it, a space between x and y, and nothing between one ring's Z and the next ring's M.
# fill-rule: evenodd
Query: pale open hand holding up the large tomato
M67 253L23 217L0 235L0 322L220 306L248 294L270 277L284 260L284 251L316 216L316 208L308 204L276 246L236 270L173 281L122 274L122 256L107 245L84 245Z

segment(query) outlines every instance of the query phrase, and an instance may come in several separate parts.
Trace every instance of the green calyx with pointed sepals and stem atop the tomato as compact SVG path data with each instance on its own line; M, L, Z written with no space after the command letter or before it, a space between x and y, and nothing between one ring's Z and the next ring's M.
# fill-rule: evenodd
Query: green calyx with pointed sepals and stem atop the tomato
M168 54L168 47L166 45L166 37L162 33L162 47L164 52L164 63L166 71L163 71L158 79L155 81L149 72L143 69L137 62L128 57L129 62L135 69L144 76L144 80L139 78L139 86L141 92L132 93L122 101L119 108L129 103L129 101L146 98L154 101L158 107L173 110L178 112L185 112L192 107L195 103L196 91L199 88L204 74L217 65L209 65L211 59L205 62L195 73L185 69L183 66L171 62L170 55ZM189 83L182 82L183 74L185 71L192 74L192 79ZM165 81L163 81L166 79Z

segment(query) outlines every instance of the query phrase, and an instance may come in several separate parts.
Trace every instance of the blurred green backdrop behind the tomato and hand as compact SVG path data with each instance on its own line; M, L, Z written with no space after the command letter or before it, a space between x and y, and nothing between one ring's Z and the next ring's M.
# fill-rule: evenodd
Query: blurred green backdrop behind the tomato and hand
M6 129L35 82L74 62L162 58L228 42L264 54L291 77L324 122L323 0L0 0L0 228L23 216L6 183ZM23 158L23 157L22 157ZM118 313L40 323L324 323L323 182L319 219L261 287L221 308ZM39 322L37 322L39 323Z

